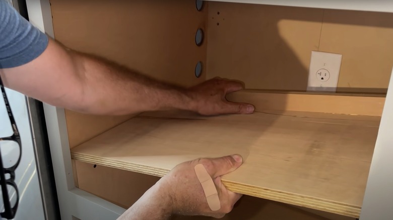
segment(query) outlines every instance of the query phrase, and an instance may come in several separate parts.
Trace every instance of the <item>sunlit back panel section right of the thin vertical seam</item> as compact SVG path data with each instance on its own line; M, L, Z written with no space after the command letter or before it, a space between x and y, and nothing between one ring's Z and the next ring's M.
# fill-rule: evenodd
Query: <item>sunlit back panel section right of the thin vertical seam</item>
M393 14L325 10L319 51L343 54L339 91L386 93Z

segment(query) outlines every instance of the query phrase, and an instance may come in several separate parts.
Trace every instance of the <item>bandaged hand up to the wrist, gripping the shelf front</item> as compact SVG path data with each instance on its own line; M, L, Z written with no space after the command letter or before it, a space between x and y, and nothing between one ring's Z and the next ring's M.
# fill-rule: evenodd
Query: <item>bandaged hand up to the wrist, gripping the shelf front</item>
M194 167L202 164L216 185L221 202L221 209L212 211L209 208L202 185L194 172ZM229 213L241 194L225 188L221 176L236 170L242 164L240 155L226 156L215 159L198 159L177 165L160 184L166 185L172 199L172 213L181 215L206 215L223 217Z

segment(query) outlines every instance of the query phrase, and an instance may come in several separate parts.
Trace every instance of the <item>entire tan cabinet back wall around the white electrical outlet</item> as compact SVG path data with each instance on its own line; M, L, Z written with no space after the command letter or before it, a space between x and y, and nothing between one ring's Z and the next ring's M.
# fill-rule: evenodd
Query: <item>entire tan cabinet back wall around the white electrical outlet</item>
M306 90L311 51L343 54L338 91L385 93L393 14L209 2L208 78Z

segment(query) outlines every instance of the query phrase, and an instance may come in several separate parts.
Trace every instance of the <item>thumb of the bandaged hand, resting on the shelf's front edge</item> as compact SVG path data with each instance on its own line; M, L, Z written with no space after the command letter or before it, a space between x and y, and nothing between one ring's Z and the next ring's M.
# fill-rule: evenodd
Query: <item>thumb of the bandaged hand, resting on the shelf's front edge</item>
M243 163L243 158L238 154L211 160L213 164L211 175L213 178L233 172Z

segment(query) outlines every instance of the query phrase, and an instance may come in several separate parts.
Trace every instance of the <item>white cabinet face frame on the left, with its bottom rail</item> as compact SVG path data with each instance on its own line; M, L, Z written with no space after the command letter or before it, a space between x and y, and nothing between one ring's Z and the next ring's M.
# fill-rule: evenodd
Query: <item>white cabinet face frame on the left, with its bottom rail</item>
M26 3L30 22L53 38L49 0ZM61 219L116 219L124 208L75 187L64 109L44 104L44 112Z

